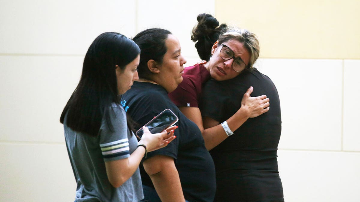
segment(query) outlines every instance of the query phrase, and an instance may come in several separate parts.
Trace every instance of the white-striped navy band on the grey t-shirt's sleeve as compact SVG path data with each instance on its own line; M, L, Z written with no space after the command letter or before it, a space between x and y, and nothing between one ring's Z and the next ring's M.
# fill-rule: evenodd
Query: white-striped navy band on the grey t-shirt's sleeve
M104 159L112 159L121 156L127 157L130 150L129 140L125 138L114 142L100 144L100 148Z

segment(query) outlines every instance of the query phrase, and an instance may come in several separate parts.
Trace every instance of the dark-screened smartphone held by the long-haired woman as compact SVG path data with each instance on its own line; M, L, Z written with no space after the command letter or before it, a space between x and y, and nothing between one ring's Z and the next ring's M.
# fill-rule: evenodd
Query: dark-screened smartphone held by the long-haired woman
M172 112L170 109L166 109L157 116L155 116L147 124L145 124L145 126L148 127L151 133L160 133L166 128L174 125L178 120L179 118L177 118L174 112ZM143 134L143 127L141 127L135 133L136 137L138 137L139 139L141 139Z

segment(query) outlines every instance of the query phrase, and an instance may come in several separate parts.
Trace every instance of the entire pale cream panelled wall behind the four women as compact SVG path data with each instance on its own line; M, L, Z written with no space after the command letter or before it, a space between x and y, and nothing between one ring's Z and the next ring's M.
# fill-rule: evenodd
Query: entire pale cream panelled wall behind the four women
M199 60L190 41L197 14L215 13L220 22L233 21L260 36L256 65L274 81L281 101L278 162L285 200L359 202L355 2L0 1L0 201L74 200L76 182L59 117L96 36L117 31L132 37L145 28L167 28L179 38L190 66ZM240 8L256 8L256 15ZM316 31L304 34L304 28ZM324 36L330 28L343 36L326 43L335 38ZM271 30L284 34L276 37Z

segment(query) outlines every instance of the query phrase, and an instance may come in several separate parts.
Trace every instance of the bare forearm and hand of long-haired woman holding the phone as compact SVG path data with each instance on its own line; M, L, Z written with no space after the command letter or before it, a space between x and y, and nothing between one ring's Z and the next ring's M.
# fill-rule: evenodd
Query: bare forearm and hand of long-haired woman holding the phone
M175 139L174 129L177 126L172 126L166 129L165 132L151 134L147 127L144 127L144 134L139 141L147 147L147 152L167 146L169 142ZM170 132L170 134L168 134ZM145 147L139 146L130 157L114 161L106 161L105 168L109 182L113 187L120 187L126 182L138 169L141 159L145 155Z

